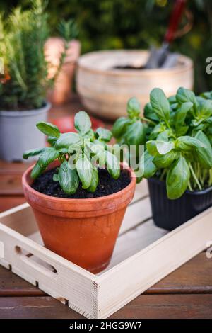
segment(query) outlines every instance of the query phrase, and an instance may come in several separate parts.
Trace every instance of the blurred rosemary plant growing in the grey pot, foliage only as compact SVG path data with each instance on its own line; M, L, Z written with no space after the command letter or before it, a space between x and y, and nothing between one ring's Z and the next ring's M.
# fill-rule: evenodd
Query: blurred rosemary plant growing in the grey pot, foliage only
M76 37L76 24L61 21L59 35L64 39L59 67L48 77L50 64L45 60L44 45L49 37L47 1L31 1L31 9L14 9L8 18L0 14L0 58L4 76L0 78L0 108L5 110L40 108L47 90L53 86L64 63L69 40Z

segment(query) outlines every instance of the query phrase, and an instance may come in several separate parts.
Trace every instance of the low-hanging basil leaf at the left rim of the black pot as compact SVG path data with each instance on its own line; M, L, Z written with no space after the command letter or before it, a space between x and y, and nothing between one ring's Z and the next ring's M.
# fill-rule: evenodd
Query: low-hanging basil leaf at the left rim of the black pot
M155 174L157 168L155 164L153 164L153 158L148 150L145 150L139 161L139 178L150 178Z

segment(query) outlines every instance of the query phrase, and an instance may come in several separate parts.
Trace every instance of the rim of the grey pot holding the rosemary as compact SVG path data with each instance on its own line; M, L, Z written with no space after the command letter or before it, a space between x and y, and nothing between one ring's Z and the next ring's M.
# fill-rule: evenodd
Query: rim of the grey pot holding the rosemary
M39 113L45 113L49 111L52 104L49 101L44 101L45 105L41 108L32 108L31 110L0 110L0 116L4 117L23 117L29 115L37 115Z

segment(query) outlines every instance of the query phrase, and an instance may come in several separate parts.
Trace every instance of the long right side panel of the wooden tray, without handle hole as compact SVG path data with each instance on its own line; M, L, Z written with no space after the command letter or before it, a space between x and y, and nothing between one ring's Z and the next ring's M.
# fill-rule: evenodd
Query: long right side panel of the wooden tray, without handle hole
M212 208L99 277L98 317L106 318L206 248Z

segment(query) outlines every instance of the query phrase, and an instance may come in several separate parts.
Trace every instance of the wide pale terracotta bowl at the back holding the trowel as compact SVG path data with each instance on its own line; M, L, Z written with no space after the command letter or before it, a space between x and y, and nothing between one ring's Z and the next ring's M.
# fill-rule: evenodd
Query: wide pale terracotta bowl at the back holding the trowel
M78 60L76 88L86 110L114 120L126 115L126 103L133 96L139 99L143 108L155 87L163 89L167 96L176 94L179 86L192 89L193 62L184 55L179 55L172 68L116 68L142 67L148 54L145 50L111 50L82 55Z

